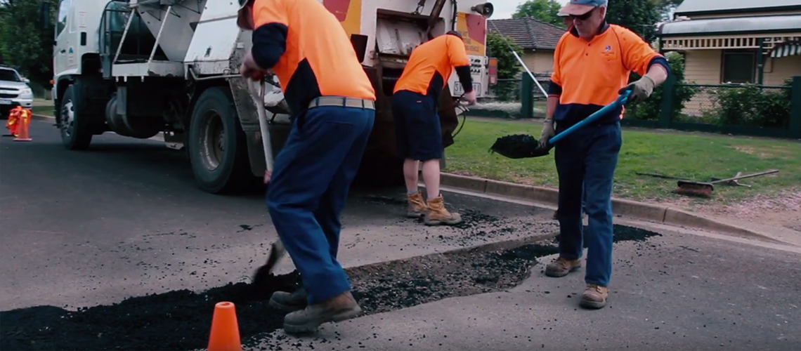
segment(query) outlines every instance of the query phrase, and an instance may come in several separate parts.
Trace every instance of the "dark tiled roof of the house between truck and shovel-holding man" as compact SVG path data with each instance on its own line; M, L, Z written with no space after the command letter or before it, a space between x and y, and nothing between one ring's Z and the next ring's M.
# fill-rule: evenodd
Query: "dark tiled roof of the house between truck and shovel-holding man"
M565 29L542 22L537 18L504 18L487 21L490 33L512 38L523 49L556 49L556 44Z

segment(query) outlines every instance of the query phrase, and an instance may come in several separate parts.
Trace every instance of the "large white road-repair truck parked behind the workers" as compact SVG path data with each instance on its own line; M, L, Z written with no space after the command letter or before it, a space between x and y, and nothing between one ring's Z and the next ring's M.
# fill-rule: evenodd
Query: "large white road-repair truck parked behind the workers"
M411 50L459 30L467 43L477 96L488 94L485 56L490 3L477 0L320 0L340 20L376 89L376 123L359 179L402 182L390 102ZM446 2L447 5L446 6ZM188 152L197 185L222 193L264 174L256 105L239 65L251 32L236 26L235 0L61 0L54 23L54 115L63 145L86 150L94 135L163 135ZM40 23L50 9L40 5ZM274 82L280 85L277 80ZM272 150L288 135L280 89L265 96ZM458 126L462 89L452 74L440 99L445 147Z

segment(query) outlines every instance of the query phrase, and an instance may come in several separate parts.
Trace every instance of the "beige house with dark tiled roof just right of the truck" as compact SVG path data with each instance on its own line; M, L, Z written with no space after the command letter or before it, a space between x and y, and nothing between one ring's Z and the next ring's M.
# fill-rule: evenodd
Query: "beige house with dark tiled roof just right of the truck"
M521 46L521 59L531 73L538 76L545 76L553 71L553 50L556 50L556 44L566 30L530 17L490 19L487 29L490 33L512 38ZM492 53L489 55L492 56Z

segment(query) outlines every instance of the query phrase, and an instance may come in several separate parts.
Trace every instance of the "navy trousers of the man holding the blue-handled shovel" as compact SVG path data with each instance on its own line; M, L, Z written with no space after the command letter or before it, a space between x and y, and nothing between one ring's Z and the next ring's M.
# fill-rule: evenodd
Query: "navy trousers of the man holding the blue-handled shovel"
M562 133L568 126L559 126ZM612 275L612 178L622 146L620 123L590 125L557 142L559 254L582 257L587 241L587 284L607 286ZM582 197L589 217L582 233Z

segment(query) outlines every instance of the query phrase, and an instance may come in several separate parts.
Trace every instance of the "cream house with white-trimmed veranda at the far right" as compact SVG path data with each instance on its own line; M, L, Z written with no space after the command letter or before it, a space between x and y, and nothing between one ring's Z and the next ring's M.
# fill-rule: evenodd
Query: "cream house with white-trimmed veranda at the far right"
M781 86L801 75L801 0L684 0L658 39L684 57L686 82Z

